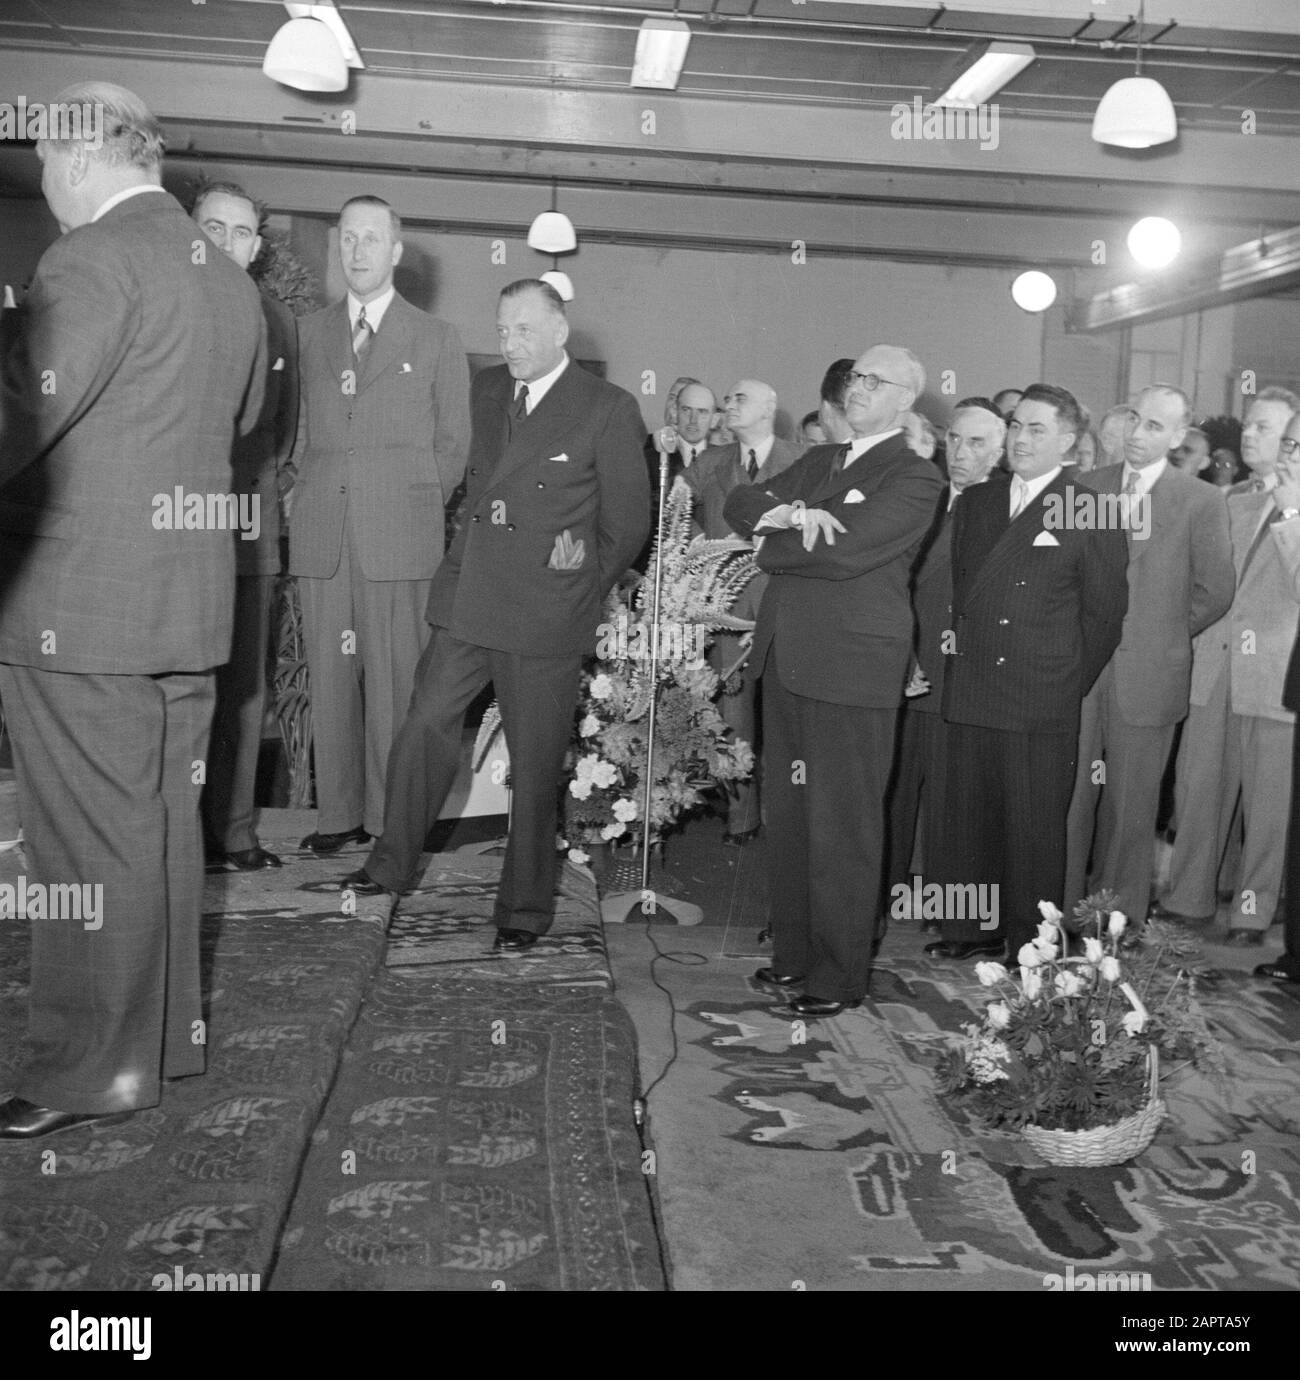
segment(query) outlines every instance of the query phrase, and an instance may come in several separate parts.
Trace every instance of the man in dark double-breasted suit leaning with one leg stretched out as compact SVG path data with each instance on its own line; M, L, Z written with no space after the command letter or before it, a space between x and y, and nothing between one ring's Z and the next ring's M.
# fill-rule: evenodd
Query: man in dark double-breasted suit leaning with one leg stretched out
M559 294L535 279L504 288L497 338L505 364L473 381L466 518L429 595L433 636L393 742L384 836L342 885L415 885L465 711L491 682L513 789L495 947L523 949L551 927L578 673L604 596L646 538L649 493L636 400L570 360Z

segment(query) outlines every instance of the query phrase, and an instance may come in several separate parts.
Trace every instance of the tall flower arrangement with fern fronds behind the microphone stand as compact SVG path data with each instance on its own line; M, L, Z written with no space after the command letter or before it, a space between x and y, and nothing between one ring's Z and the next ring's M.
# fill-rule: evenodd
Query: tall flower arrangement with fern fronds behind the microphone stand
M718 712L719 678L704 653L719 628L745 632L754 624L727 613L754 578L754 549L745 541L691 535L691 494L678 480L650 556L649 575L615 585L604 603L596 654L582 668L578 712L564 792L564 836L574 862L589 861L602 842L640 836L651 702L650 832L654 842L704 802L713 782L737 781L754 770L754 749L733 738ZM654 570L662 552L658 629L654 628ZM658 635L657 675L651 644ZM734 671L736 668L731 668ZM657 694L656 694L657 691ZM493 705L475 748L480 762L500 715Z

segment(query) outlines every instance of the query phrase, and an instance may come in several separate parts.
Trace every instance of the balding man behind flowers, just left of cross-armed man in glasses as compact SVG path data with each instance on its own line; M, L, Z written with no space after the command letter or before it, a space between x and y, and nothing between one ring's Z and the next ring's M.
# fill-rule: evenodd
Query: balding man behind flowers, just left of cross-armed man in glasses
M685 388L678 400L678 415L693 391ZM723 516L727 495L737 484L766 484L795 462L795 450L773 432L777 415L777 395L769 384L742 378L723 399L727 426L736 440L730 446L713 446L685 471L682 477L694 497L693 515L700 530L709 540L734 537L731 524ZM766 575L755 575L731 606L737 618L756 618ZM759 751L755 700L758 682L742 667L745 651L741 633L716 632L709 643L708 661L734 686L723 686L718 697L718 712L731 733ZM737 781L727 791L727 828L722 842L733 847L748 843L758 835L762 822L758 773L748 781Z

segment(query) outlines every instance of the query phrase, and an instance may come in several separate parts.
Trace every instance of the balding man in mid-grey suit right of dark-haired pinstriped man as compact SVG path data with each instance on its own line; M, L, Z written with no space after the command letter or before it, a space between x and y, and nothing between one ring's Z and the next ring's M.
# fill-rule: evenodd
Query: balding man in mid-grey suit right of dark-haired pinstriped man
M1168 460L1190 421L1181 389L1144 388L1129 414L1123 464L1081 480L1129 495L1141 520L1127 531L1123 633L1083 697L1065 903L1105 887L1134 920L1151 901L1161 778L1173 730L1187 716L1191 639L1227 611L1237 584L1223 495Z

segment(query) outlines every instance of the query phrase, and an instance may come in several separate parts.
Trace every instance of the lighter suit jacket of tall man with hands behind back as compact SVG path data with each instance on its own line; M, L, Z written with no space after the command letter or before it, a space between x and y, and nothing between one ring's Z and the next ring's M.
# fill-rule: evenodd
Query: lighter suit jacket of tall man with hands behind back
M302 317L298 331L290 574L333 575L351 520L367 580L428 580L443 559L444 508L469 448L469 366L460 335L400 293L360 373L346 297Z

